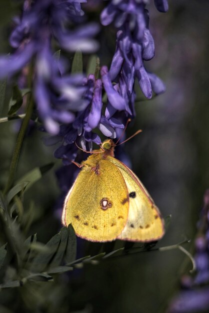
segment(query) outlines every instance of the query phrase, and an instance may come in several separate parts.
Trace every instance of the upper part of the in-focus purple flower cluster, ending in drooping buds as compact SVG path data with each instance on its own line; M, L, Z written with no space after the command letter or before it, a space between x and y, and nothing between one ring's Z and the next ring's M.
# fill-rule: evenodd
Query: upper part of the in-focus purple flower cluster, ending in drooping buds
M163 82L144 67L144 60L154 56L154 40L148 29L149 16L145 0L112 0L101 13L101 23L114 23L118 28L116 49L109 69L111 81L129 105L134 115L134 80L137 78L143 94L149 99L164 92ZM168 9L166 0L155 0L160 11Z

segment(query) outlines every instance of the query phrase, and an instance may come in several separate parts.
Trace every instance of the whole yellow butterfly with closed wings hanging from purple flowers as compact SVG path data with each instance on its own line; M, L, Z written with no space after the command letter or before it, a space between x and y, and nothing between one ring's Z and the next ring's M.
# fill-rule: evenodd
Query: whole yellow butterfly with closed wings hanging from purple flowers
M114 157L106 139L93 150L69 190L62 223L90 241L153 241L164 234L160 212L138 177Z

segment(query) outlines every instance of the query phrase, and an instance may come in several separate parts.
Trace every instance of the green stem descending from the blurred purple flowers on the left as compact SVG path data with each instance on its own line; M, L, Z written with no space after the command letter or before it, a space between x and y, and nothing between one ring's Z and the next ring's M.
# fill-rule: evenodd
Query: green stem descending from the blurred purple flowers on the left
M33 109L32 95L28 94L27 99L28 100L27 100L26 114L25 114L25 117L23 118L21 127L20 127L18 135L17 135L17 139L16 139L16 143L15 143L15 147L14 147L14 151L13 151L13 155L12 155L12 159L11 159L11 164L10 164L10 168L9 168L8 180L7 180L7 183L6 183L5 188L3 190L4 194L6 192L8 192L8 190L10 189L10 187L12 186L12 183L14 181L14 176L15 176L15 172L16 172L16 167L17 167L17 163L18 163L18 159L19 159L20 150L22 147L23 138L24 138L25 132L27 130L27 126L28 126L30 117L32 115L32 109Z

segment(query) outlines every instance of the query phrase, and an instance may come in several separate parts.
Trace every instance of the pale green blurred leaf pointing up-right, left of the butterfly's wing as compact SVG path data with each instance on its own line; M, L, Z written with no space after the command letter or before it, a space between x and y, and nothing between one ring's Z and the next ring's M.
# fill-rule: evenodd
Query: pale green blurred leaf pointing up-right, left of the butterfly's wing
M28 188L31 187L33 183L39 180L44 173L46 173L49 169L51 169L53 165L54 163L48 163L41 167L35 167L29 172L27 172L25 175L23 175L20 179L18 179L17 183L28 181L27 186L26 186L26 190L27 190Z

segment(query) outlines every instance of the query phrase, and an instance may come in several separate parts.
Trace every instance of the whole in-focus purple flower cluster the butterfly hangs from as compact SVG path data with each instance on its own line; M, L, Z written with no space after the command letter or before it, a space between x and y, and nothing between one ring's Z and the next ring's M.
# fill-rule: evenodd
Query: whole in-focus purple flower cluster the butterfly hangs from
M166 3L155 1L161 11L167 9ZM143 60L154 56L154 42L148 30L148 14L144 1L110 1L101 13L101 22L107 25L112 21L119 29L109 72L106 66L102 66L100 79L96 79L93 74L86 78L86 90L83 94L86 106L76 113L72 123L60 126L57 136L45 139L46 144L61 142L54 156L62 158L64 165L70 164L71 160L77 157L74 142L84 150L91 150L92 142L96 144L101 142L94 128L99 129L107 137L120 136L127 118L135 115L133 87L135 78L138 79L147 98L151 97L152 90L158 94L165 89L162 81L156 75L147 72L143 64ZM102 89L107 95L104 110L102 110ZM68 185L68 181L65 185ZM63 192L64 188L62 184Z

